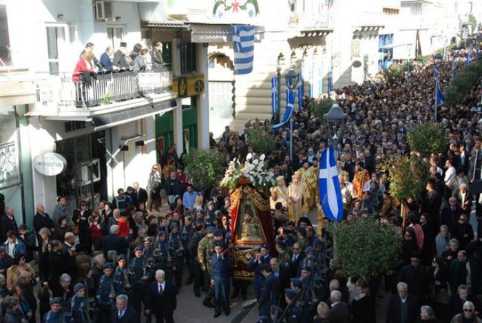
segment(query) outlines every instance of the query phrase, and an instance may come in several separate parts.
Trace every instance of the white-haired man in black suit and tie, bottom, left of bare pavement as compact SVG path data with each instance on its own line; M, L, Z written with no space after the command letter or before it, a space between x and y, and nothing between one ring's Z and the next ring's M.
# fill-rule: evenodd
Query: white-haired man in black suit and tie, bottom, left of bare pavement
M156 323L174 323L173 313L178 306L174 286L165 281L166 273L156 271L156 281L149 285L145 299L145 314L156 316Z

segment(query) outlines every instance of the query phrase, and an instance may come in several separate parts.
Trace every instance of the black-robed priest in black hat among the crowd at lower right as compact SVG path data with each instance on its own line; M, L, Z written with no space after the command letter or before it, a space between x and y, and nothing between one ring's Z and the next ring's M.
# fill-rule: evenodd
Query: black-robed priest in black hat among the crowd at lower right
M420 305L424 302L427 295L427 282L425 268L420 265L420 254L413 253L410 257L410 264L401 270L401 281L408 285L408 293L417 297Z

